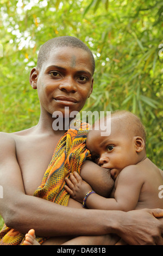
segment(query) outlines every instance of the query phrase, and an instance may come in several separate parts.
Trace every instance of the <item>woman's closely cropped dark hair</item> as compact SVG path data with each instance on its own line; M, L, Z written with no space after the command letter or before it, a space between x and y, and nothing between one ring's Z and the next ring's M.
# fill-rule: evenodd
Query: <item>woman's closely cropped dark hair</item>
M48 57L50 52L54 48L59 48L59 47L72 47L72 48L82 48L86 52L90 54L91 62L92 62L92 74L95 72L95 58L93 57L93 54L90 50L89 47L87 47L83 41L80 39L74 37L74 36L59 36L57 38L52 38L45 42L40 48L39 55L37 58L37 68L41 69L42 63L45 62Z

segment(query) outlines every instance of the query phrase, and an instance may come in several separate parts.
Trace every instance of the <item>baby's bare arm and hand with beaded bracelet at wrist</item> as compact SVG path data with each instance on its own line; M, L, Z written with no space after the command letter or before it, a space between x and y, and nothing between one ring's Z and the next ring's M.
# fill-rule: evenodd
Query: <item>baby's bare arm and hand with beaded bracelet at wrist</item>
M78 173L71 174L70 180L67 180L67 185L66 191L80 203L83 203L86 193L92 190ZM87 197L86 206L89 209L133 210L139 200L142 185L143 178L141 172L137 171L137 167L126 167L118 177L115 198L104 198L93 193Z

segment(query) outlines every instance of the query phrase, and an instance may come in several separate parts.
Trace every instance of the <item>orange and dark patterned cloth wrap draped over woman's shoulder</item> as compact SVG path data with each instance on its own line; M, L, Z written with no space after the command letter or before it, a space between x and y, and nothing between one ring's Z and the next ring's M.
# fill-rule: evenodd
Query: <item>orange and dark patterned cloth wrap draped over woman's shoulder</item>
M74 124L73 128L70 126L58 142L42 183L34 192L35 197L67 206L70 195L64 189L65 178L68 178L70 172L73 173L74 170L80 173L83 162L91 156L86 149L86 137L90 125L76 121L76 129L74 126ZM0 232L0 245L23 245L24 237L24 234L4 224ZM46 239L47 237L36 236L40 244Z

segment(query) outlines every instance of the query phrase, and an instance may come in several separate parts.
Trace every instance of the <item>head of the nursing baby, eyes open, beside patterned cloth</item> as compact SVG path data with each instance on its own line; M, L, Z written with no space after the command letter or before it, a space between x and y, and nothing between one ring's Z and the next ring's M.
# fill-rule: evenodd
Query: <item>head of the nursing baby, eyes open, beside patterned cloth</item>
M105 122L105 117L98 122ZM111 133L101 136L101 130L93 125L87 136L86 145L92 159L99 166L110 169L116 179L121 170L136 164L146 157L146 133L140 119L128 111L111 113ZM100 127L100 125L99 125Z

